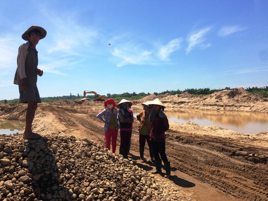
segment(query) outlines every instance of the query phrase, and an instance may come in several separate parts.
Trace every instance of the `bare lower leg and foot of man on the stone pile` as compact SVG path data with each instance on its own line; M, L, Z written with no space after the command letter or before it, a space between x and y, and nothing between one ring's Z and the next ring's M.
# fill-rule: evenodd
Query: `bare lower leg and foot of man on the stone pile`
M36 101L27 101L27 102L28 102L28 108L26 112L26 127L23 137L25 139L40 139L41 135L32 132L32 123L34 120L35 111L37 109L37 103Z

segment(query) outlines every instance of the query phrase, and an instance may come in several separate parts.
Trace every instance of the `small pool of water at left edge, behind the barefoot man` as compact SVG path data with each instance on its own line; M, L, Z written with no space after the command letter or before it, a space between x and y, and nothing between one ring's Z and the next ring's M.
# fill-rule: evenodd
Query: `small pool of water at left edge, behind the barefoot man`
M24 126L23 122L0 119L0 134L20 133Z

